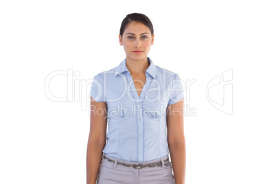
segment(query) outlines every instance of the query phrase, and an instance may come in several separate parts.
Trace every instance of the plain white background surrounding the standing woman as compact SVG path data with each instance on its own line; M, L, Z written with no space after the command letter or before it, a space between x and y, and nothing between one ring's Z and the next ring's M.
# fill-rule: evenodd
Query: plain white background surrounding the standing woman
M240 0L1 1L0 183L86 183L91 80L124 60L119 27L133 12L152 21L154 64L196 80L189 102L185 96L196 110L184 117L186 183L276 183L275 8ZM229 69L230 115L207 98L208 83ZM79 76L72 88L56 76L45 89L53 71ZM68 98L56 102L45 90ZM212 91L223 104L223 84Z

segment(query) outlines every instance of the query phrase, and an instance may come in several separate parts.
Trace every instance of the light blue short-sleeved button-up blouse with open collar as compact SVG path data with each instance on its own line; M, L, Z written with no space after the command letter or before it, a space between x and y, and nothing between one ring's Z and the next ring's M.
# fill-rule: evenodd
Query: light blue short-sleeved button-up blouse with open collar
M90 95L106 102L108 132L105 154L125 161L150 161L169 153L166 108L184 97L179 75L154 65L146 69L140 96L126 67L126 58L113 69L97 73ZM91 113L102 113L93 111Z

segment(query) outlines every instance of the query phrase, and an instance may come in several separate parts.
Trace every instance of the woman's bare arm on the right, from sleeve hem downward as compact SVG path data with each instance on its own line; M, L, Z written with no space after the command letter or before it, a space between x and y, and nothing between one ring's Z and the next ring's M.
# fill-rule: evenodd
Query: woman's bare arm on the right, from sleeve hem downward
M168 147L176 184L185 184L186 148L183 126L183 99L167 109Z

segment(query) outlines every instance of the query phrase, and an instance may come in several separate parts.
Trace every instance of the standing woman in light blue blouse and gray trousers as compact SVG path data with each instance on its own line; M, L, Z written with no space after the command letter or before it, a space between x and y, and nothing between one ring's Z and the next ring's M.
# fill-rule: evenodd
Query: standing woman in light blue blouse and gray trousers
M87 184L185 181L182 85L147 56L153 43L150 19L128 14L119 32L126 58L94 76Z

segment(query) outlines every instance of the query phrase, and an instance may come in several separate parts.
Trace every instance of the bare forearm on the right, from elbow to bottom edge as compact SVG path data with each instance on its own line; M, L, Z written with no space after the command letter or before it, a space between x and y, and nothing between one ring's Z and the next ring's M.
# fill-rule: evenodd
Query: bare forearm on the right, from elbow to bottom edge
M186 148L185 141L181 143L168 143L170 157L172 160L172 169L174 170L174 179L176 184L185 184L186 170Z

